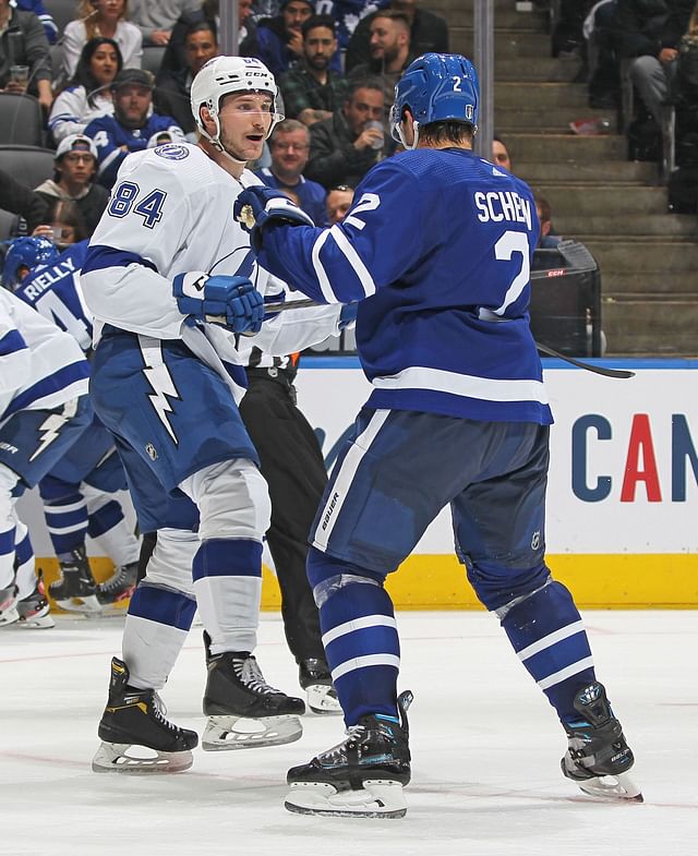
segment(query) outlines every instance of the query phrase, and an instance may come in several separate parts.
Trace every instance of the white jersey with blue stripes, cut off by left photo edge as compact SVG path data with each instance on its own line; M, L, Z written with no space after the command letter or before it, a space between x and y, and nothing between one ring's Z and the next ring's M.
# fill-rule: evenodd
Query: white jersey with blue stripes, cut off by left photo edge
M72 336L0 288L0 420L86 395L88 374Z

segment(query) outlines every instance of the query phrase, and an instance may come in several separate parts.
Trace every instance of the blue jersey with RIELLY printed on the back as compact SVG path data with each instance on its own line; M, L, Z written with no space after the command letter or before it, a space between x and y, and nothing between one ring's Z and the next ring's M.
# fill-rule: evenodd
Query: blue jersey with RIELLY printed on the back
M85 352L92 346L92 313L85 305L80 272L88 243L73 244L52 264L35 268L14 292L45 318L70 333Z

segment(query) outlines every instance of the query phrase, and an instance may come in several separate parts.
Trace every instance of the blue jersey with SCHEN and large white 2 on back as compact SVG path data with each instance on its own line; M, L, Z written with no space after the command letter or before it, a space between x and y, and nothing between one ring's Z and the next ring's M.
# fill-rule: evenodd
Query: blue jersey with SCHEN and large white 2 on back
M370 407L549 424L528 314L539 231L524 181L423 148L374 167L330 229L268 228L260 263L315 300L361 301Z

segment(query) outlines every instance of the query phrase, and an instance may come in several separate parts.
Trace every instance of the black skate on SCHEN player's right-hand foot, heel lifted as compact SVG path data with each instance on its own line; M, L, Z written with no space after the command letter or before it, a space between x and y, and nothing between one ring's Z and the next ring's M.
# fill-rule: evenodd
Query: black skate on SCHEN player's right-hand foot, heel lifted
M565 726L568 748L561 761L563 773L590 796L641 803L640 789L627 775L635 758L603 685L585 687L574 704L582 720Z

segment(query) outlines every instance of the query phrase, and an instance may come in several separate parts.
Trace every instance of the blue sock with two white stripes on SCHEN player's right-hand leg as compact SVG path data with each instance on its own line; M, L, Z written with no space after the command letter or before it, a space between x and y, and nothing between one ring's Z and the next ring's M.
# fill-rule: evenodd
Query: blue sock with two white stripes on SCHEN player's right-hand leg
M561 721L578 721L575 696L595 677L587 631L567 589L555 581L538 589L506 612L502 627Z

